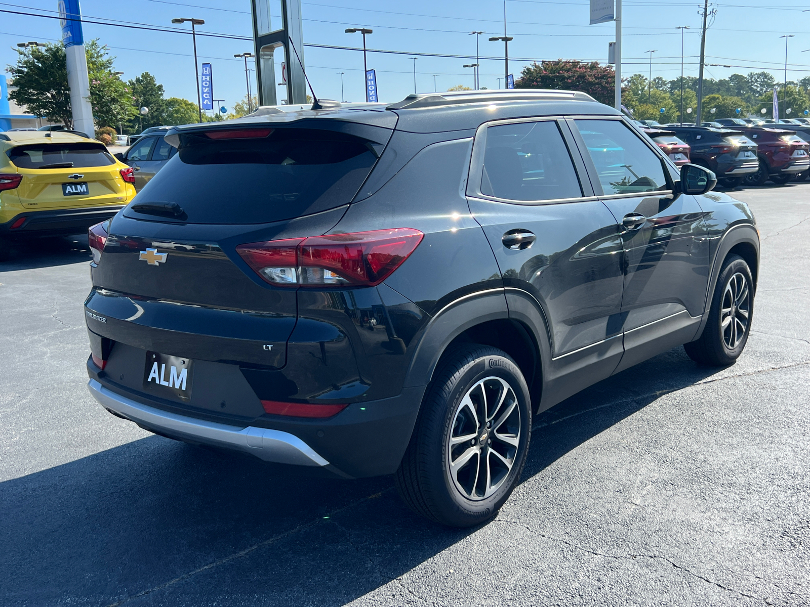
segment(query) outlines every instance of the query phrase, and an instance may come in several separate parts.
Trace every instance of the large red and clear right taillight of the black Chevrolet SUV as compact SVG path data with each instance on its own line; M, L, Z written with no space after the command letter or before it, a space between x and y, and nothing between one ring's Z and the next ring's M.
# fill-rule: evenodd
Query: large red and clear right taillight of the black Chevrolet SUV
M240 244L266 282L283 287L373 287L414 252L424 234L410 227Z

